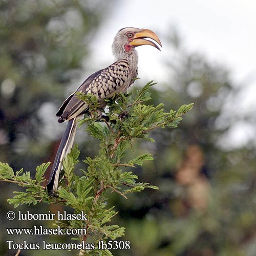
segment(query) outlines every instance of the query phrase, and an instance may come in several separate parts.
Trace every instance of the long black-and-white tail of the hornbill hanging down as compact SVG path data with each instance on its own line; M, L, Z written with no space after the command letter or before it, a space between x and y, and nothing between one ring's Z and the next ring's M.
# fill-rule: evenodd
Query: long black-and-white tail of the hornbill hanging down
M51 174L47 183L47 190L49 194L56 194L58 189L58 181L59 181L59 172L62 167L62 160L70 153L71 147L74 142L74 137L77 128L77 120L76 117L71 119L68 122L65 133L63 134L59 148L52 166Z

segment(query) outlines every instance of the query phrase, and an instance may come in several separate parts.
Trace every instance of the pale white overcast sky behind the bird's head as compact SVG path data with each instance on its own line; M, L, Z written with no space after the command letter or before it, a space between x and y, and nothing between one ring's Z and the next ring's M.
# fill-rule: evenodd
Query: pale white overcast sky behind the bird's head
M246 85L237 107L244 112L256 111L256 1L129 0L116 3L93 42L92 61L90 67L86 65L91 69L89 73L113 61L111 45L120 28L152 29L161 39L161 35L166 35L169 28L175 26L188 51L203 53L208 59L224 65L231 71L234 84ZM170 55L164 40L162 44L161 52L150 46L138 48L139 77L143 81L161 82L162 60ZM232 143L243 145L255 134L246 132L246 137L245 131L248 127L243 129L240 124L236 129L238 136L231 136Z

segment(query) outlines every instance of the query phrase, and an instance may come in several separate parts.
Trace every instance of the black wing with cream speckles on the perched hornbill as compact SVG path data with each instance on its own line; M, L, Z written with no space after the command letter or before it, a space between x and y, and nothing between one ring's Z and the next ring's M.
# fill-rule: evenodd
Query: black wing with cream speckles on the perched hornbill
M125 92L133 83L129 71L129 62L123 59L90 75L60 106L56 114L59 116L58 122L70 120L87 111L88 105L76 97L77 92L92 93L99 102L112 97L114 93Z

